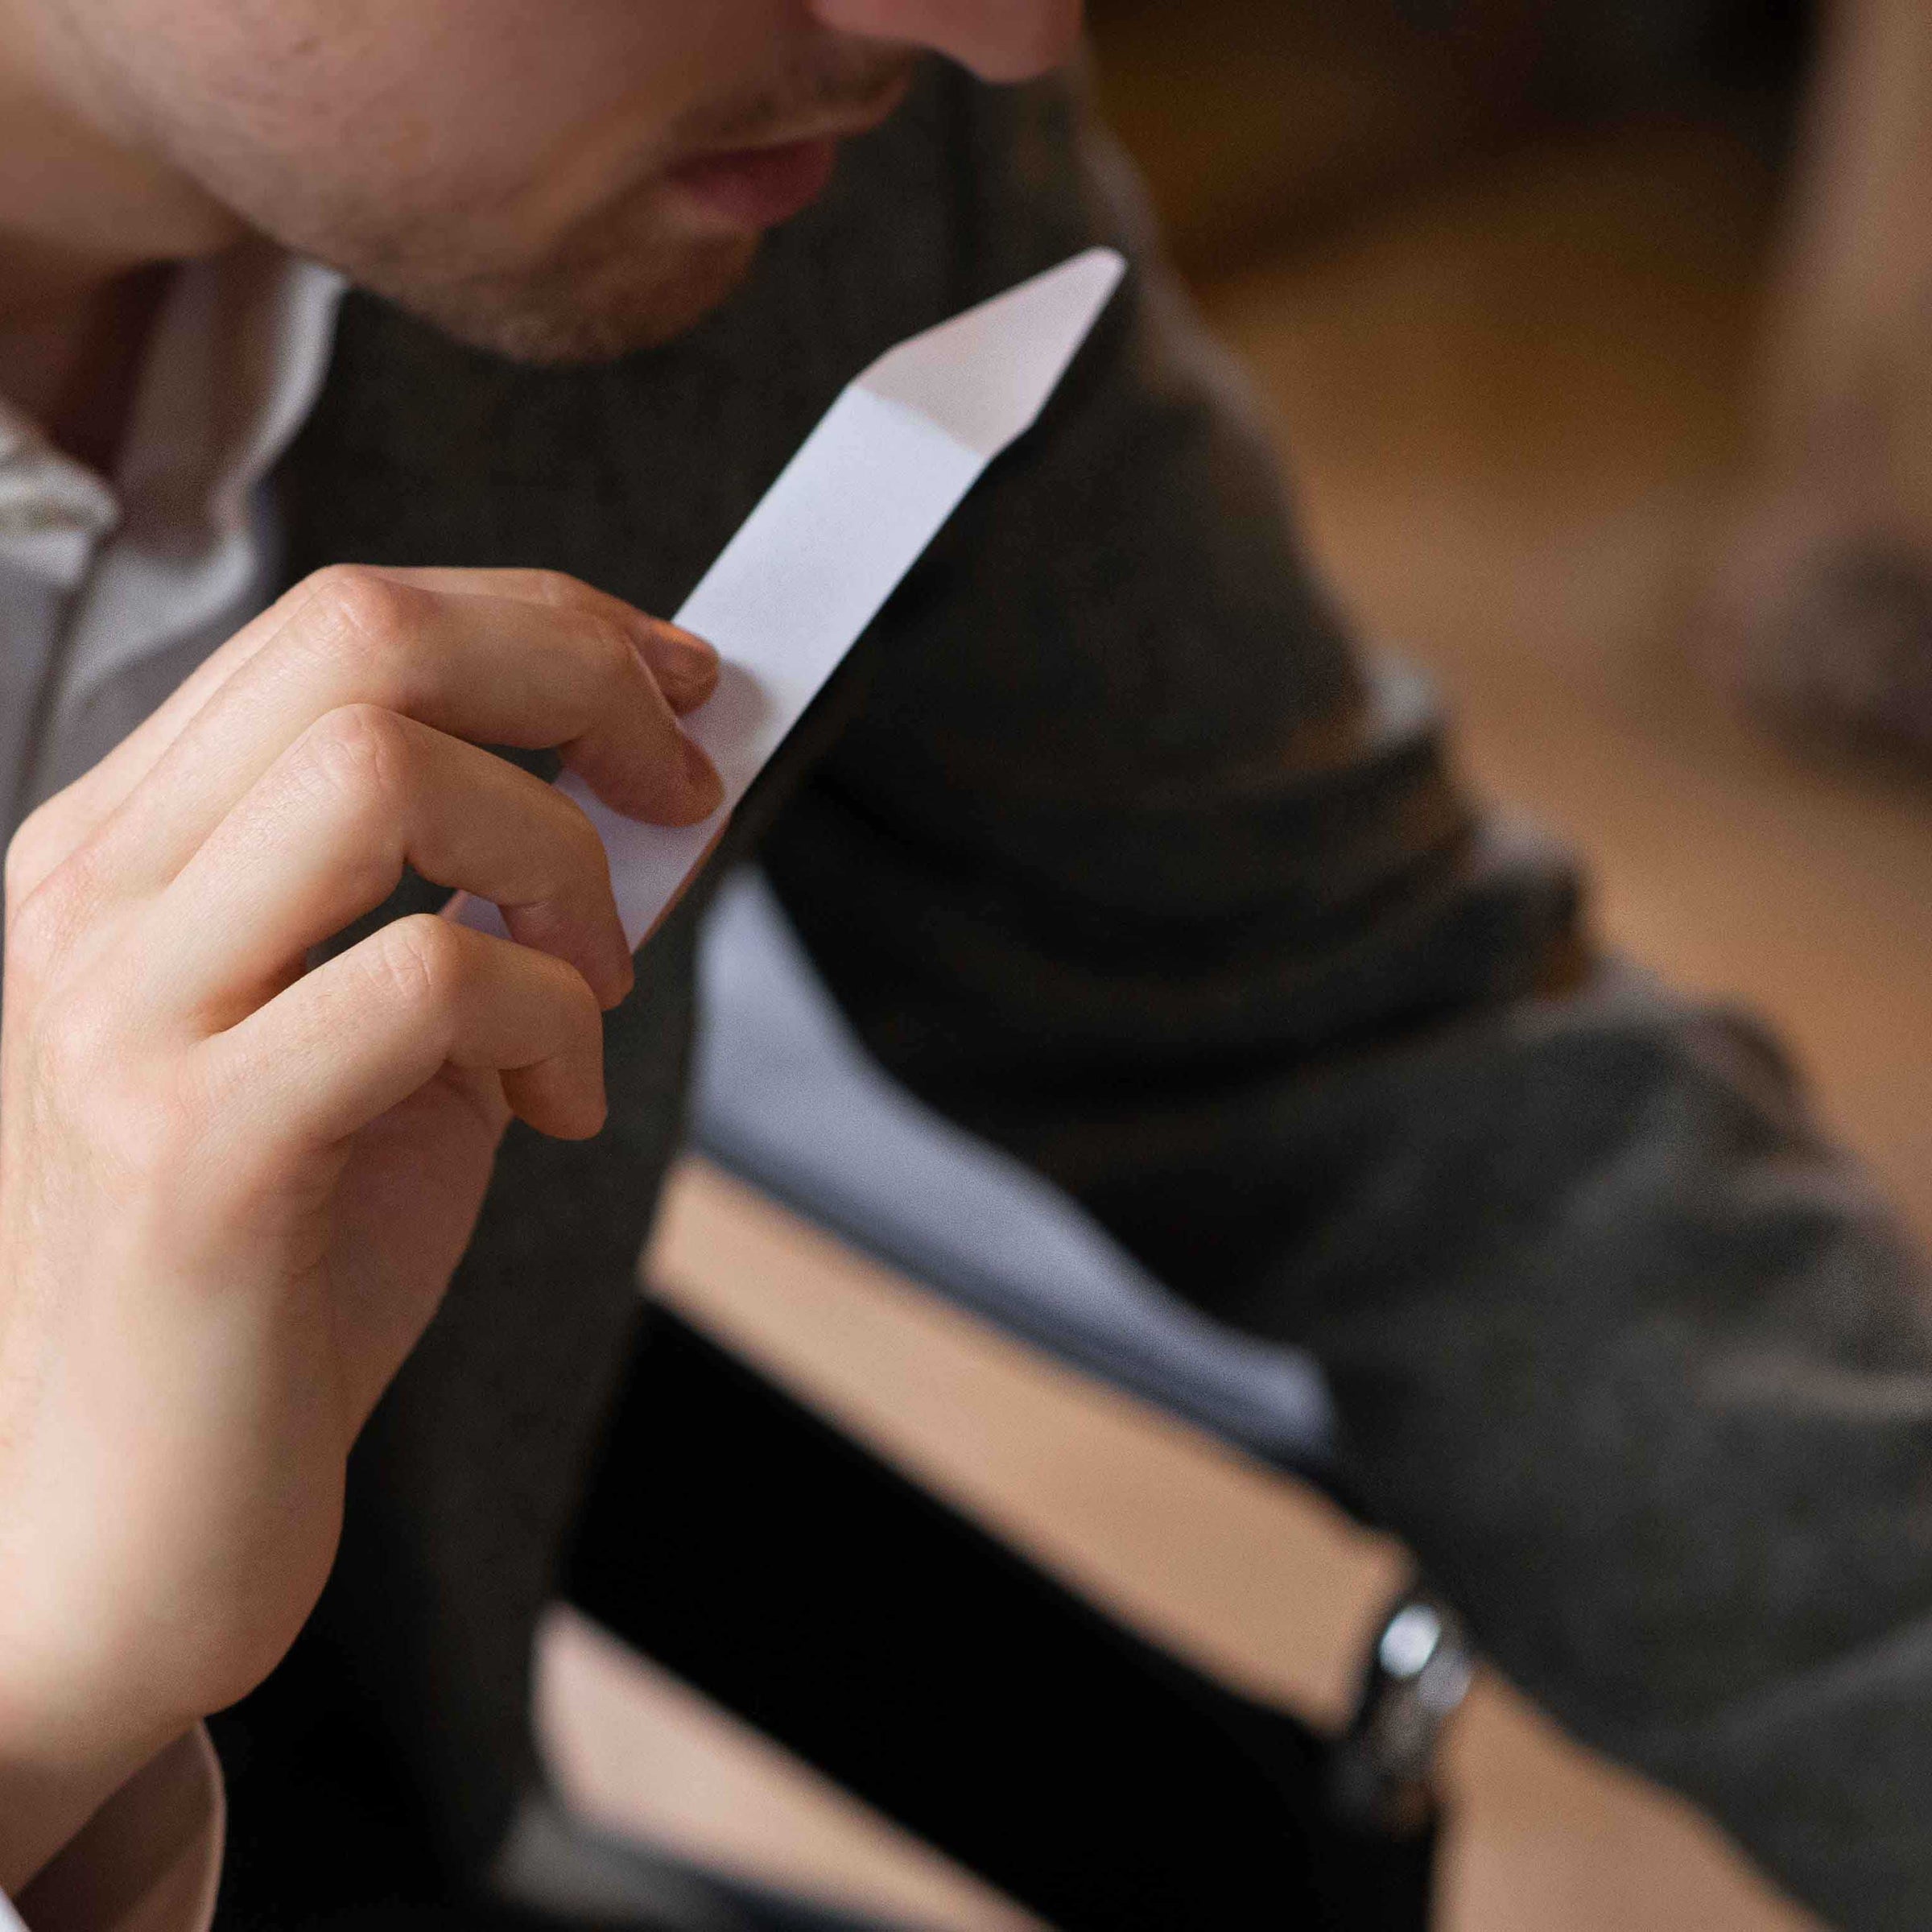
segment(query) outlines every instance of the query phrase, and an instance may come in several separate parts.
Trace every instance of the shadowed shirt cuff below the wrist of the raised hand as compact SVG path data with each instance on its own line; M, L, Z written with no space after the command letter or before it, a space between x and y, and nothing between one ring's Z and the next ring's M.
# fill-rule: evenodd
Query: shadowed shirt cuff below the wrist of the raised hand
M129 1777L12 1905L0 1932L209 1932L228 1812L195 1725Z

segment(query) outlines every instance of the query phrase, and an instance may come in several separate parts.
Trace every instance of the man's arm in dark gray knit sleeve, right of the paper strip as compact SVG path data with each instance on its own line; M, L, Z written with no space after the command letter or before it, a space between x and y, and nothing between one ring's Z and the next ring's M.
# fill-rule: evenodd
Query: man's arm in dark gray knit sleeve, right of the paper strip
M1065 99L966 120L987 282L1095 230L1142 276L875 638L788 910L914 1090L1318 1350L1350 1492L1505 1671L1832 1917L1926 1922L1917 1258L1347 647Z

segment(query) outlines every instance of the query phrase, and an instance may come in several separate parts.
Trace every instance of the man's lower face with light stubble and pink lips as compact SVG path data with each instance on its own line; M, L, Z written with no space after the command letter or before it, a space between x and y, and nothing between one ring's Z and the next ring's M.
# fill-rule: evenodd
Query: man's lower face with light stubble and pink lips
M85 156L95 189L52 234L21 195L0 232L112 259L143 245L126 203L191 251L240 216L469 342L551 361L676 334L744 274L755 228L680 166L869 128L923 48L1003 79L1078 27L1076 0L0 8L15 102L41 102L41 145L75 176Z

